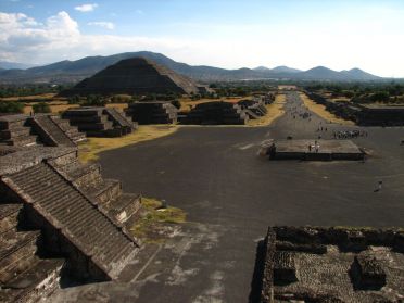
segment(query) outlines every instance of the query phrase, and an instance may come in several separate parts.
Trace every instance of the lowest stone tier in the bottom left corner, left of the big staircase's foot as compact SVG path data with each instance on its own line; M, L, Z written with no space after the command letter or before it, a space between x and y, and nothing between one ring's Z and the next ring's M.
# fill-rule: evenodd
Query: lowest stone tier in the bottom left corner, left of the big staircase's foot
M38 261L0 289L0 302L37 302L59 288L63 258Z

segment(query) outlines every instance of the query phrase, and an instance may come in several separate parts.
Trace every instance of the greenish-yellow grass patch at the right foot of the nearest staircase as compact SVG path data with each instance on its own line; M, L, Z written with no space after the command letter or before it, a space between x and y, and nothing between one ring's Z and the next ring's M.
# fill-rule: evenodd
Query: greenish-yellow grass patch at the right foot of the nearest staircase
M152 198L142 198L146 214L130 228L135 237L143 242L161 242L173 232L173 225L186 222L187 214L177 207L159 209L162 202Z

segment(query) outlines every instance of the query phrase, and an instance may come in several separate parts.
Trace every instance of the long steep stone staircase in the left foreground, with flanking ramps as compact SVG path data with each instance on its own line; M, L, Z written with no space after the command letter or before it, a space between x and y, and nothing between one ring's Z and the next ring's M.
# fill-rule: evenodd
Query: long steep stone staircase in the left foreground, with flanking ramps
M132 239L50 164L5 175L2 181L111 279L137 253Z

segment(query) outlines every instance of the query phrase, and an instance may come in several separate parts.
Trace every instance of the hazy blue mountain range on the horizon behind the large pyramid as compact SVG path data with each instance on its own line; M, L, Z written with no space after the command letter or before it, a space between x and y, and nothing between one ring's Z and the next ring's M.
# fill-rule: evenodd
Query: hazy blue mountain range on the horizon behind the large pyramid
M254 80L254 79L290 79L290 80L330 80L330 81L370 81L384 78L371 75L359 68L336 72L324 66L317 66L308 71L300 71L288 66L267 68L225 70L213 66L191 66L176 62L161 53L149 51L126 52L109 56L86 56L76 61L61 61L43 66L26 70L7 68L0 62L0 83L77 83L90 77L97 72L117 63L121 60L142 56L164 65L174 72L191 77L199 81L216 80ZM7 68L7 70L5 70Z

